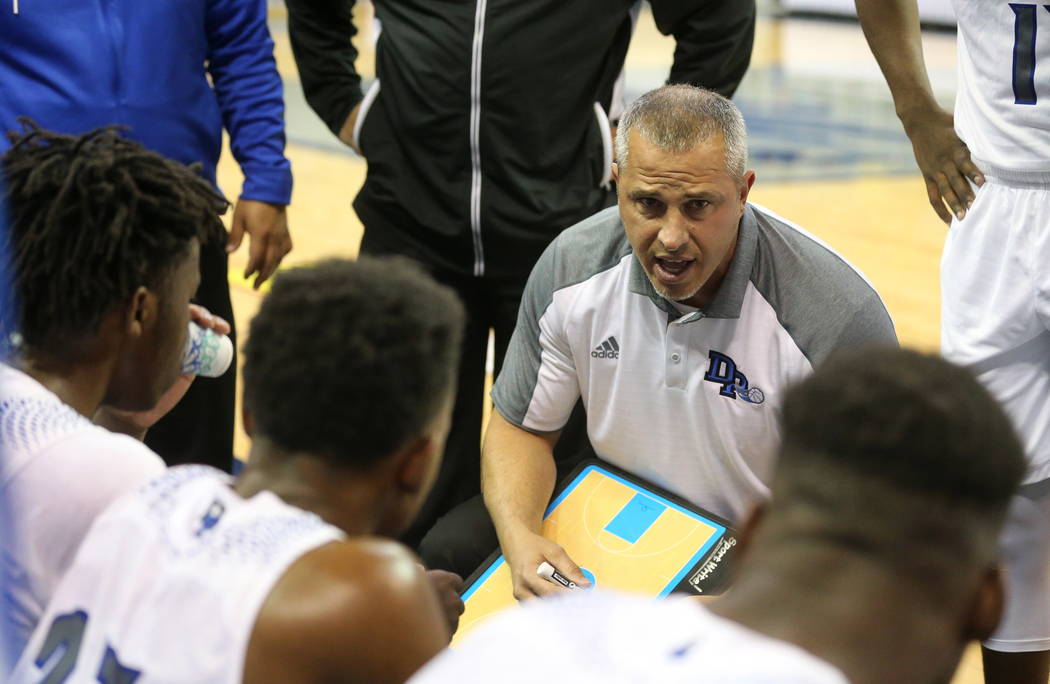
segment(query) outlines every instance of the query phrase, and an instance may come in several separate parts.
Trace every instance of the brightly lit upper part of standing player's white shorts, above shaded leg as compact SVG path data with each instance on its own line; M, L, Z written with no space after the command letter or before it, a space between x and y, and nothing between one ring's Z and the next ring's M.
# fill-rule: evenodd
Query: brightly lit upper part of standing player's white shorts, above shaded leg
M1030 463L1050 478L1050 179L989 178L941 260L941 352L1000 400Z

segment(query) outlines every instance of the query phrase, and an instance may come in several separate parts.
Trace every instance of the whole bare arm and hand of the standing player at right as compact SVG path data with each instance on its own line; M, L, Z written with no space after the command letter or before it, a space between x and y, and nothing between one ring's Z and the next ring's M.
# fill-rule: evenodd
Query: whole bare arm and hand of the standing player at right
M967 179L981 185L984 177L956 134L952 116L933 98L923 61L916 0L856 2L864 36L886 77L897 116L911 140L930 206L945 223L951 223L952 213L962 219L974 198Z

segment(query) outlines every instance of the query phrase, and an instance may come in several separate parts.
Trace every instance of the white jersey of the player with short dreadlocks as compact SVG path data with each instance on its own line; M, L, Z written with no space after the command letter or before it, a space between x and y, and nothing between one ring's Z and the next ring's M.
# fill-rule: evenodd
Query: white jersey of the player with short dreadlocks
M163 472L146 444L100 428L0 364L0 620L8 635L0 661L22 652L96 516Z

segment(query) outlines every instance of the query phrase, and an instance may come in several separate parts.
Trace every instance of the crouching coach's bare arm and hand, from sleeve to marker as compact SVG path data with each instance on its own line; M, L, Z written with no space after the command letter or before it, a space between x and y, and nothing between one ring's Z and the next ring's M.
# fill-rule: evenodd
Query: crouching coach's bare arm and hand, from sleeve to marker
M554 491L553 449L560 434L528 432L499 411L492 412L485 433L481 491L519 600L565 590L537 575L544 561L578 584L587 584L565 550L540 535L543 512Z

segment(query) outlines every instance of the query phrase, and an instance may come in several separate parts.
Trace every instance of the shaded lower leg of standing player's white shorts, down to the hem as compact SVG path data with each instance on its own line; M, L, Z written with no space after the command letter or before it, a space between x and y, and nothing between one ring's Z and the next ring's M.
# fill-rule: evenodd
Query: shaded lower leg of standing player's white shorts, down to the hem
M1005 652L1050 650L1050 480L1027 484L1013 497L1000 552L1006 605L984 645Z

